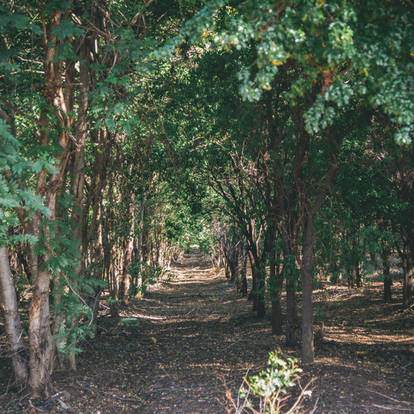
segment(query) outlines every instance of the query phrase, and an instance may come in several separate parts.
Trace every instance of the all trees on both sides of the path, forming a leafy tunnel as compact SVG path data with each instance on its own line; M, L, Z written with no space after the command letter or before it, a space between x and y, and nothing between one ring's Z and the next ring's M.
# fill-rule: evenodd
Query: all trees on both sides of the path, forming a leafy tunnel
M0 296L20 386L50 395L103 289L116 314L190 241L221 241L244 294L248 257L275 333L285 283L288 344L302 296L305 363L317 273L358 286L371 253L391 299L396 249L411 303L410 2L0 6Z

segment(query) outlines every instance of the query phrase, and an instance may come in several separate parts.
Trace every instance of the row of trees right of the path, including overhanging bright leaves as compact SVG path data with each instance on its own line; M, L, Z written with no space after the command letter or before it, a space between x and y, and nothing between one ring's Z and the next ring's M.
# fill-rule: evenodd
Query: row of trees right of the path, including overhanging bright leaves
M290 344L299 338L302 294L305 363L313 361L315 232L325 242L319 268L342 255L350 284L354 273L361 283L364 248L380 254L387 299L395 246L404 304L411 302L412 149L401 145L413 123L411 12L389 2L213 1L166 46L195 44L177 87L186 92L177 99L170 89L166 104L177 99L182 108L187 99L186 114L196 119L187 151L204 161L199 180L244 236L260 316L270 266L275 332L286 281ZM327 197L337 208L324 207Z

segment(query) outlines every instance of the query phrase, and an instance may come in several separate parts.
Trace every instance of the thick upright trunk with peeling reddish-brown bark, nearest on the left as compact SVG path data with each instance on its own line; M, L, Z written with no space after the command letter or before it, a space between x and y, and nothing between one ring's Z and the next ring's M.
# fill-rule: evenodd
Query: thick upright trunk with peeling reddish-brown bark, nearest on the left
M48 103L50 112L46 109L41 112L40 122L46 127L39 130L39 141L42 146L50 146L51 127L50 115L53 115L59 124L59 146L61 152L57 156L57 167L59 170L50 175L47 170L41 170L37 177L36 193L46 196L46 206L49 214L46 219L56 219L56 201L57 193L62 184L63 172L66 170L66 164L69 157L70 137L69 132L72 128L72 115L70 110L70 101L72 100L72 86L66 92L63 92L63 61L55 59L56 48L59 41L53 34L53 30L60 25L61 18L68 18L70 10L62 14L59 10L53 10L50 15L46 16L43 10L43 2L39 3L40 19L43 28L43 70L44 86L43 96ZM48 28L46 28L48 21ZM18 212L19 213L19 212ZM43 255L30 247L30 262L32 266L32 300L29 310L29 377L28 386L34 396L50 397L53 392L52 382L50 381L50 372L52 368L52 333L50 331L50 280L52 273L46 266L48 259L52 255L49 244L50 228L43 223L44 217L39 212L32 215L30 221L22 220L22 226L25 226L28 233L41 239L43 249L46 251Z

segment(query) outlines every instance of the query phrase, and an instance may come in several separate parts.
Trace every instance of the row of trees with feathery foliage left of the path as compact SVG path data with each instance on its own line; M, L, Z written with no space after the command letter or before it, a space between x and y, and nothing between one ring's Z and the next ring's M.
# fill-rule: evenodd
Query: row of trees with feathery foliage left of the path
M102 290L116 313L186 236L148 54L192 10L151 3L1 2L0 296L17 383L44 397L94 335Z

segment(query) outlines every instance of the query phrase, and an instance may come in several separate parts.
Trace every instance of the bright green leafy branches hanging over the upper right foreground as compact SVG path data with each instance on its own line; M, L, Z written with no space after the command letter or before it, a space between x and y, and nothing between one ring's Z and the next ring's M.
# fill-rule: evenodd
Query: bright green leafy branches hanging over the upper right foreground
M352 106L355 97L386 113L398 126L397 139L408 142L414 113L414 25L407 14L404 5L381 1L287 5L252 0L231 7L210 1L163 51L173 50L180 39L209 41L223 52L246 51L254 59L239 67L243 99L259 101L266 90L289 79L291 104L309 95L323 97L314 99L306 115L309 132L331 124L334 112ZM290 72L281 70L285 65ZM326 81L329 70L333 77Z

